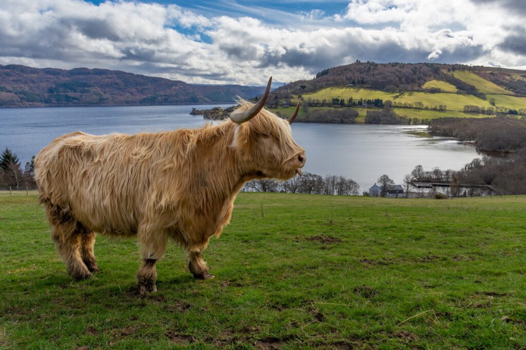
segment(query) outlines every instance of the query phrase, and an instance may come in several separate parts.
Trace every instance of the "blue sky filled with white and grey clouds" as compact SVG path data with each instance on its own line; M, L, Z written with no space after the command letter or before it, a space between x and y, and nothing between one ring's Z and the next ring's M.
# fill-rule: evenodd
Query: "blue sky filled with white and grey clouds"
M276 84L357 59L526 68L526 1L2 0L0 64Z

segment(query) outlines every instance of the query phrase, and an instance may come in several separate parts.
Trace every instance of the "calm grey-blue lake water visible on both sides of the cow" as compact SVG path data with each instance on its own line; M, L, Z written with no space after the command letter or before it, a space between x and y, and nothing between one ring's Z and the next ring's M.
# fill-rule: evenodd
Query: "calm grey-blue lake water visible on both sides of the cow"
M204 125L202 116L188 114L192 107L211 106L0 109L0 149L10 148L23 166L51 140L67 132L81 130L103 135ZM292 134L307 151L304 171L322 176L343 175L358 182L362 190L372 186L382 174L401 183L403 176L418 164L424 169L458 170L479 157L472 145L414 135L414 131L425 129L425 126L294 123Z

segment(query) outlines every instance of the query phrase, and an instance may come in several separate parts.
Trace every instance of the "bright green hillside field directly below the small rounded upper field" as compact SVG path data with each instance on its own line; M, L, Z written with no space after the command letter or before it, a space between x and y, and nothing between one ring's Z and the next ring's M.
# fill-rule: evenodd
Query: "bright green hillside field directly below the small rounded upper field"
M428 92L410 91L404 92L400 97L393 100L396 102L422 102L424 106L446 105L448 110L463 111L465 105L474 105L480 107L491 107L487 100L483 100L473 95L449 94L440 92L438 94L429 94Z

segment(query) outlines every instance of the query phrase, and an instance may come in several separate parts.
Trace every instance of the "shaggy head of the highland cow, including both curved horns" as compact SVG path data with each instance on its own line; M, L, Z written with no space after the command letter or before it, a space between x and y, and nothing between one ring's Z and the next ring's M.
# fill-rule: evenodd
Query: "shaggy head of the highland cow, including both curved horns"
M296 174L307 158L305 150L292 138L290 124L296 118L299 102L294 115L288 120L281 119L263 106L270 91L270 78L265 94L255 104L242 101L241 107L230 115L237 123L232 146L238 151L242 166L254 178L275 178L286 180Z

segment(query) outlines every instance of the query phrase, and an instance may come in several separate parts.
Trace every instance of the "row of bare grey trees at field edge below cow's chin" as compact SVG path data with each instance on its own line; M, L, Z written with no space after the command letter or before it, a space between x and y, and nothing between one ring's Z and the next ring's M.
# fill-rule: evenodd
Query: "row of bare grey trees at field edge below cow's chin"
M359 195L360 186L355 181L343 176L327 175L322 177L305 172L301 177L294 177L282 182L272 179L252 180L245 183L242 191Z

